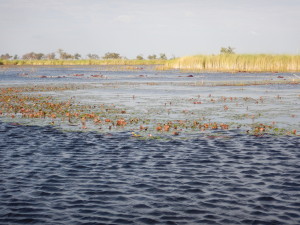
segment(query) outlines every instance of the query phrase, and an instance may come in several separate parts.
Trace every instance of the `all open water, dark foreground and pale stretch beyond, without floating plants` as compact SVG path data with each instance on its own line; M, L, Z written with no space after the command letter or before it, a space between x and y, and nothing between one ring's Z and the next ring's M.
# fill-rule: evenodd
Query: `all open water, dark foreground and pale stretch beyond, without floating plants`
M299 85L191 85L277 74L188 75L18 67L2 70L0 86L82 83L90 88L41 94L114 104L155 121L205 115L251 124L241 114L260 113L256 121L299 130ZM236 100L223 102L224 96ZM299 136L247 135L237 128L159 133L154 139L133 137L134 127L99 130L87 124L84 131L66 131L62 121L47 126L18 116L0 120L0 224L300 224Z

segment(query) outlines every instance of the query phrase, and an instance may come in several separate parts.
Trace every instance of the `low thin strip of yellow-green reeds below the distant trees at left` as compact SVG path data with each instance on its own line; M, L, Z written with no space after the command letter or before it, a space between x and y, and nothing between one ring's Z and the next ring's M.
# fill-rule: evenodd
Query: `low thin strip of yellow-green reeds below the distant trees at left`
M83 60L0 60L0 65L162 65L166 60L136 60L136 59L83 59Z

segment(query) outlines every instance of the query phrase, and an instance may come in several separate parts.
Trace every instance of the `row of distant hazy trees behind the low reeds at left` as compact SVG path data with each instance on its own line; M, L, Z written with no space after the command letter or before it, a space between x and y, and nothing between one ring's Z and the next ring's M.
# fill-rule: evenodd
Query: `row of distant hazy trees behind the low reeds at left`
M119 53L116 52L107 52L104 56L100 57L97 54L89 53L86 55L87 59L127 59L126 57L121 56ZM173 57L175 58L175 57ZM61 60L79 60L83 59L82 55L79 53L70 54L64 51L63 49L58 49L56 52L51 52L48 54L44 53L36 53L36 52L29 52L22 56L18 55L10 55L8 53L0 55L0 59L2 60L54 60L54 59L61 59ZM165 53L160 53L159 55L153 54L149 55L148 57L144 58L142 54L136 56L137 60L144 60L144 59L162 59L167 60L167 56Z

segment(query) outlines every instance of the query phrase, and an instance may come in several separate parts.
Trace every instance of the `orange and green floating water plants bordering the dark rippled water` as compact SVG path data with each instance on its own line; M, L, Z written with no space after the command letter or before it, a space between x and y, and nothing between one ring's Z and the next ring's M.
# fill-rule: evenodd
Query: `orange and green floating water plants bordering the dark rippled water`
M90 85L34 85L0 88L0 116L10 118L11 120L43 120L44 123L65 127L75 127L78 130L98 130L107 131L131 131L132 137L156 138L157 136L170 135L181 136L184 133L206 133L216 130L230 130L245 127L247 133L251 135L297 135L297 130L283 129L272 125L257 124L255 120L261 117L256 114L235 114L232 118L238 120L251 120L249 124L235 125L230 122L217 122L206 118L210 109L201 113L191 110L183 110L181 113L187 116L187 119L159 119L156 115L163 113L160 109L153 109L150 113L140 114L128 108L122 108L115 104L83 104L77 102L74 98L63 100L55 96L48 95L47 92L64 92L70 90L80 90L91 88ZM44 94L43 94L44 93ZM278 99L280 100L280 99ZM197 101L194 98L188 99L193 105L216 105L212 110L215 114L231 113L231 104L237 102L259 104L264 102L264 98L258 99L244 97L214 97L211 94L206 98L198 96ZM174 102L169 102L171 107ZM180 104L180 102L176 103ZM165 104L165 107L167 105ZM219 108L216 111L216 107ZM228 112L227 112L228 111ZM148 112L149 113L149 112ZM163 118L168 118L170 111ZM147 118L145 118L147 116ZM291 117L295 118L294 114Z

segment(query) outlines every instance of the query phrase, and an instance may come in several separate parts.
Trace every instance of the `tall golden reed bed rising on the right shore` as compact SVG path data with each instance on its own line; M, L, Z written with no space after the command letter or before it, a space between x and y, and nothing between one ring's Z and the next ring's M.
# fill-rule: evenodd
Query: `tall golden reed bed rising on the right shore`
M216 72L299 72L300 55L195 55L167 61L160 69Z

